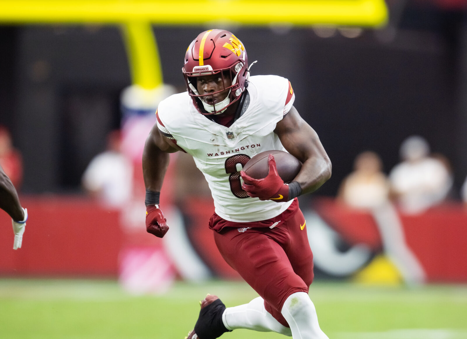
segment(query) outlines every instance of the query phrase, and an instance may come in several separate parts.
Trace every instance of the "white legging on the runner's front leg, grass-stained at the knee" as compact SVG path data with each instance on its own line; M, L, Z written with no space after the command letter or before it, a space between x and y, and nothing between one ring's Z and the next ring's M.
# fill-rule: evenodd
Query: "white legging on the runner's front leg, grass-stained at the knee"
M290 294L281 310L293 339L329 339L319 328L315 305L305 292Z

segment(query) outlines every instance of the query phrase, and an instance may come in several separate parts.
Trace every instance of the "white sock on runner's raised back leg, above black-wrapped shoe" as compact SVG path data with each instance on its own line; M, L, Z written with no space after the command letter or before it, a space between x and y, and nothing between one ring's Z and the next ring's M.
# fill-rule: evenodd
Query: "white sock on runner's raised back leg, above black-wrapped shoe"
M222 321L228 330L245 328L258 332L277 332L291 337L290 328L279 323L264 308L264 300L257 297L248 304L227 307L222 314Z

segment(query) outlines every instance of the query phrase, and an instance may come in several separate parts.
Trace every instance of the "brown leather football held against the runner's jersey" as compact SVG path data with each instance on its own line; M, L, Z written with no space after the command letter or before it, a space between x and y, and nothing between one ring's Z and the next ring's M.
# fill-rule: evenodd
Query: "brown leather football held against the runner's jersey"
M248 160L245 166L243 166L243 171L255 179L266 178L269 173L269 154L274 155L277 173L279 173L281 179L284 180L284 183L290 183L297 176L298 172L300 172L300 168L302 168L300 160L290 153L277 150L265 151L256 154L253 158Z

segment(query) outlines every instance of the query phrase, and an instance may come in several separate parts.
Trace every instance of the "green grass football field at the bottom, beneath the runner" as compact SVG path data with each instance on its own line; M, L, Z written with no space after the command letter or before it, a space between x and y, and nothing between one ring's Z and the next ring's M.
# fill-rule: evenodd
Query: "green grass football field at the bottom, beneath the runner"
M0 279L0 338L183 339L206 293L226 306L256 297L241 282L177 283L161 296L131 296L114 281ZM310 296L330 339L467 338L467 285L315 282ZM235 330L222 338L285 337Z

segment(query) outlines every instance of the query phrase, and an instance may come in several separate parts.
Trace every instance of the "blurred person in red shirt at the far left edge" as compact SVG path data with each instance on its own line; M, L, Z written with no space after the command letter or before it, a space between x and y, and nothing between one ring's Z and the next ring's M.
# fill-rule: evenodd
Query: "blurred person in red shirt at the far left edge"
M0 125L0 166L10 178L14 187L19 189L23 178L21 154L12 144L10 132Z

